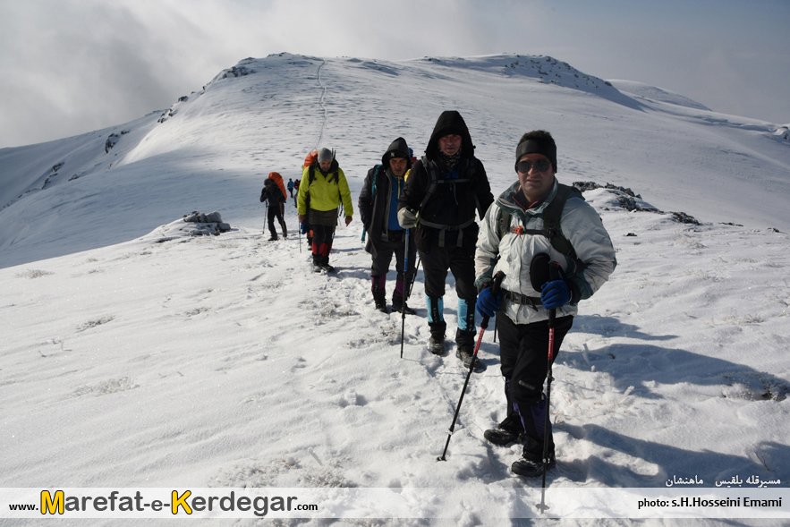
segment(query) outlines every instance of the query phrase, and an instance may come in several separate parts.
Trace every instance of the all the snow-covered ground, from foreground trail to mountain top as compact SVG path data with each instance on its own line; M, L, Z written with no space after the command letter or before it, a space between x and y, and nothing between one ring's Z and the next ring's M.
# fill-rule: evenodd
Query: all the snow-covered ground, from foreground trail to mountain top
M644 198L585 192L618 267L582 302L556 362L549 486L666 489L698 478L710 488L759 476L786 489L790 236L777 211L790 147L769 123L637 102L592 77L569 87L527 66L515 75L507 64L519 59L248 59L163 113L88 134L89 146L64 140L72 150L51 157L57 141L27 147L40 166L0 151L37 167L31 191L0 211L0 487L465 489L487 499L416 499L417 517L436 517L437 503L446 524L507 517L514 503L497 489L540 483L509 472L517 447L482 438L505 410L493 328L480 348L488 369L472 377L437 463L465 371L454 346L444 357L426 349L421 271L402 360L400 317L373 309L358 218L338 228L336 276L311 273L293 235L261 233L269 171L297 177L306 150L334 147L356 198L390 140L403 135L419 153L439 112L455 107L497 192L513 177L519 133L542 126L559 140L562 181L624 184ZM395 109L408 118L395 122ZM67 157L78 145L90 153ZM85 173L42 189L54 159L66 159L59 174L78 170L70 159ZM754 166L739 176L749 187L733 164ZM686 207L675 206L677 187ZM744 205L750 195L760 208ZM195 209L220 211L234 230L185 236L179 218ZM293 207L286 220L295 232ZM560 522L576 523L623 524Z

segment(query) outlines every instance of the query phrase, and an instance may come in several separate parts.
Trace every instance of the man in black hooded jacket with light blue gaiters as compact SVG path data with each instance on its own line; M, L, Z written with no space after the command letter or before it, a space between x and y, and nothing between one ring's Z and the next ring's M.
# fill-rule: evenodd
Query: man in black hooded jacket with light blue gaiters
M474 157L474 145L463 117L456 111L439 115L425 149L403 188L398 220L413 230L425 274L425 296L430 327L429 350L444 354L446 322L443 313L445 280L449 269L458 294L455 355L471 366L474 351L474 249L478 226L493 202L486 169Z

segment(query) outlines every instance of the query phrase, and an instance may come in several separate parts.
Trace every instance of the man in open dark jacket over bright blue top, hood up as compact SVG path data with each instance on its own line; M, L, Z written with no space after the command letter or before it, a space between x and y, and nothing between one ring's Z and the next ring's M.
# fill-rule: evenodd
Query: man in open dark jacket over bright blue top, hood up
M392 293L392 309L404 310L406 314L415 313L406 305L405 288L412 283L412 276L417 259L417 248L414 238L409 238L409 268L403 272L403 257L406 256L404 240L405 229L398 223L398 200L405 184L404 176L412 167L409 147L406 140L399 137L381 157L381 165L368 171L365 183L360 192L360 215L362 225L368 233L365 251L373 257L370 278L373 282L371 291L376 309L387 312L386 283L389 264L395 253L395 291Z

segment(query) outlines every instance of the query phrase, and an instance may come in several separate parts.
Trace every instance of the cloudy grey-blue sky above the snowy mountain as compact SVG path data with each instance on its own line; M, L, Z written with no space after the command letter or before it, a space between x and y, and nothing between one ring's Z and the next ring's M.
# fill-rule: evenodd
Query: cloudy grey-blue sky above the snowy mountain
M551 55L790 123L788 0L0 0L0 148L125 123L248 56Z

